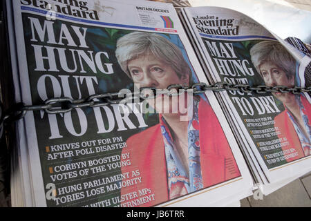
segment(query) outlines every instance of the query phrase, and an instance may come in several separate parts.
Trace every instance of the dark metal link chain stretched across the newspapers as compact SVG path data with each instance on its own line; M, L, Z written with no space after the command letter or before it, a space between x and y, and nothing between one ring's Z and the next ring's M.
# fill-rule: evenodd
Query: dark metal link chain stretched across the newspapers
M124 97L129 97L127 100L144 100L155 97L155 95L165 94L168 96L176 96L184 93L186 90L191 90L195 95L205 93L208 90L220 92L224 90L234 90L241 91L242 93L292 93L299 94L311 91L311 86L309 87L294 87L288 88L287 86L249 86L247 84L229 84L227 82L218 82L214 85L207 85L205 83L197 83L192 86L182 86L182 84L171 84L166 90L160 90L152 87L140 88L139 92L126 94L120 96L120 93L104 93L99 95L91 95L86 99L71 99L68 97L59 97L47 99L44 104L26 106L23 103L18 103L8 109L3 115L3 110L1 109L0 116L0 133L3 131L3 124L5 122L14 122L18 119L23 118L28 111L45 111L48 114L57 113L67 113L75 108L82 107L100 107L107 106L110 104L119 104L124 101ZM178 91L178 92L176 92ZM149 92L149 93L148 93ZM152 93L151 93L152 92ZM153 95L153 96L150 96ZM0 106L0 108L2 108Z

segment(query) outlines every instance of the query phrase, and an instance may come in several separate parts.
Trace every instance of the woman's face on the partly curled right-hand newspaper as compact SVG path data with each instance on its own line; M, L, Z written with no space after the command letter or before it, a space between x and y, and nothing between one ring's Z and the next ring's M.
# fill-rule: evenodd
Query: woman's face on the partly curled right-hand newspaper
M276 64L271 61L267 61L261 66L259 66L265 85L267 86L288 86L290 88L294 87L294 77L290 79L286 76L286 73L279 68ZM279 99L283 104L292 102L294 95L291 93L272 93L277 99Z

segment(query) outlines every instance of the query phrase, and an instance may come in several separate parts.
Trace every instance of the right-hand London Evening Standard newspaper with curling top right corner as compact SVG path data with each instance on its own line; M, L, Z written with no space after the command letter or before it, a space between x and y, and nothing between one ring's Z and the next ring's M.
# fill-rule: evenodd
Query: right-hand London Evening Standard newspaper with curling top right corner
M249 86L308 86L310 57L246 15L217 7L182 9L211 80ZM244 137L249 161L263 184L311 169L310 96L307 93L221 94ZM291 102L290 102L291 101ZM262 171L262 173L260 172Z

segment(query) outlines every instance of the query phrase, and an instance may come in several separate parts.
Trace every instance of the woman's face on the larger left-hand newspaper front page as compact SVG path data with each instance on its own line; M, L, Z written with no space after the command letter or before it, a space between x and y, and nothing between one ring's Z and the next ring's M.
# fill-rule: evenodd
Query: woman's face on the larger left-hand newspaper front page
M151 53L129 61L128 68L133 82L139 84L140 88L153 87L157 89L165 89L171 84L189 84L189 75L178 77L175 70L173 70L169 64L157 59ZM159 113L163 113L163 110L169 110L170 113L172 113L173 107L168 104L170 102L163 102L163 100L171 101L171 99L164 99L164 96L157 96L156 104L161 102L161 110L156 108L153 99L149 99L147 102L153 106L153 108L156 108Z

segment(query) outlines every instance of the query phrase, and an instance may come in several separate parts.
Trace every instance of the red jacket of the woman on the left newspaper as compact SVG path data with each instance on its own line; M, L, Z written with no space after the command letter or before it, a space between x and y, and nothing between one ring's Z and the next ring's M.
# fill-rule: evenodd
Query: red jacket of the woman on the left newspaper
M201 101L198 115L200 164L204 187L241 176L227 138L211 106ZM122 173L130 172L131 176L132 171L139 170L142 182L122 188L121 195L136 191L138 196L131 199L135 200L143 197L138 190L147 188L154 194L154 200L152 198L140 206L153 206L168 201L167 164L160 124L133 135L126 143L127 147L123 148L122 153L130 153L131 166L122 167Z

